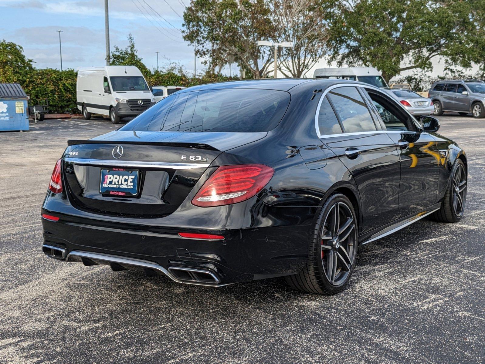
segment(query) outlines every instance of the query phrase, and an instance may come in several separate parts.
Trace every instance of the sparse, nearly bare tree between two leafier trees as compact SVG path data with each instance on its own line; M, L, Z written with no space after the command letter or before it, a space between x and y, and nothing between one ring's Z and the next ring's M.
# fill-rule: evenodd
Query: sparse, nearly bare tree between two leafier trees
M326 52L327 31L316 0L279 0L274 14L279 42L292 42L282 48L278 69L285 77L304 77Z

